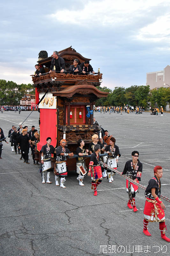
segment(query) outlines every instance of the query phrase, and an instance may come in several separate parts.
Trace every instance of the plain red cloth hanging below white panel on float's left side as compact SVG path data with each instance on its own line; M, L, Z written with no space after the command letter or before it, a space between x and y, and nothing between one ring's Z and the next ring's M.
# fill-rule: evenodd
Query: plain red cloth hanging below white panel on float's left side
M51 145L57 142L57 115L56 109L40 109L40 142L37 144L38 151L45 145L47 137L51 137Z

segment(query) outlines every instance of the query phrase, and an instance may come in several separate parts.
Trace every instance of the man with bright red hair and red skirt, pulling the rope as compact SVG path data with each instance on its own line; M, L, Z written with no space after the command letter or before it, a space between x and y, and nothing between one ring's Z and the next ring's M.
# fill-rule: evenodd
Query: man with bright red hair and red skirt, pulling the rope
M163 170L162 167L157 165L153 169L154 177L149 180L148 186L145 190L145 206L144 206L144 230L143 233L146 236L151 236L148 231L149 222L159 222L159 229L161 232L161 237L167 242L170 242L170 239L165 235L165 205L160 199L160 188Z

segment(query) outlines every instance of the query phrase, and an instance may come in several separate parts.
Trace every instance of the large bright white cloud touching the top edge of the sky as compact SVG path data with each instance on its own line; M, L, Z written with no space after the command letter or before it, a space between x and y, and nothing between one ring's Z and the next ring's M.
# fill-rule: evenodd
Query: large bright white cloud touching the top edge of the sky
M60 23L78 24L82 26L91 26L99 24L103 26L115 26L117 24L127 25L133 23L135 17L144 15L148 9L158 5L168 5L167 0L103 0L89 1L80 10L63 9L49 15L52 20Z

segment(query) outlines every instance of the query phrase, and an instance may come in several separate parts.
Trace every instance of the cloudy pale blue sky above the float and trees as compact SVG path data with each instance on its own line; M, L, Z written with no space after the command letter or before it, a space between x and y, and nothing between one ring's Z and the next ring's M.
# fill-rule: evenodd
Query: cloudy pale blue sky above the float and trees
M32 83L38 53L72 47L102 86L145 85L170 65L170 1L1 1L0 79Z

